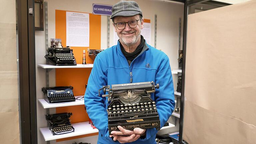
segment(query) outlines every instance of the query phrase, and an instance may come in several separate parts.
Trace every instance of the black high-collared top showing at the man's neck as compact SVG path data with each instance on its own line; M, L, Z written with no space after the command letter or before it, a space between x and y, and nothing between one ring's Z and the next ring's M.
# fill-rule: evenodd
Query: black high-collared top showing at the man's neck
M124 50L124 47L122 46L122 44L120 43L120 47L121 47L121 50L124 54L124 56L126 57L129 65L131 64L131 62L140 54L140 52L142 51L143 47L144 47L144 43L145 43L145 40L143 38L142 35L140 35L140 44L138 45L138 47L136 48L136 50L132 53L128 53Z

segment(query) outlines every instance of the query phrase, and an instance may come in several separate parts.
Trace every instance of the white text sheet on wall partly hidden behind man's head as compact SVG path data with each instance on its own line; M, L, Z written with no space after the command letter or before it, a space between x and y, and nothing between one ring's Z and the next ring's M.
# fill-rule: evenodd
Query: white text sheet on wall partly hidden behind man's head
M143 29L141 29L141 35L144 37L144 39L146 40L147 44L151 44L150 40L151 40L151 25L150 23L146 23L144 22L144 27ZM127 25L126 25L127 26ZM113 45L117 45L117 40L119 40L119 37L117 36L115 29L113 28Z

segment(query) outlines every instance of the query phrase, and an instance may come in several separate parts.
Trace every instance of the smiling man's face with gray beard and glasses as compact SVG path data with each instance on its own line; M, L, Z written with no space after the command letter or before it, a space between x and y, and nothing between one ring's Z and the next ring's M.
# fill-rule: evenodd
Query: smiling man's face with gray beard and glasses
M135 16L130 16L130 17L125 17L125 16L117 16L114 18L114 23L119 23L119 22L129 22L129 21L134 21L134 20L139 20L140 15L135 15ZM143 28L143 22L144 19L140 19L138 21L138 25L135 28L131 28L128 23L126 23L125 28L122 30L119 30L116 25L113 23L113 26L115 28L115 32L117 33L120 42L127 45L131 46L135 44L140 37L140 32L141 29Z

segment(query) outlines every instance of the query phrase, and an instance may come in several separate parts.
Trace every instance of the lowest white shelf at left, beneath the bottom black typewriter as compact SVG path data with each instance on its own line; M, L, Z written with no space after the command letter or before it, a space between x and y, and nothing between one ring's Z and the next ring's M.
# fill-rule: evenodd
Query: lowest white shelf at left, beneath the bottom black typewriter
M45 141L99 132L98 129L93 129L91 127L91 124L89 124L89 122L74 123L72 124L72 126L74 127L75 132L61 134L61 135L52 135L52 132L51 130L49 130L48 127L40 128L40 132L42 133Z

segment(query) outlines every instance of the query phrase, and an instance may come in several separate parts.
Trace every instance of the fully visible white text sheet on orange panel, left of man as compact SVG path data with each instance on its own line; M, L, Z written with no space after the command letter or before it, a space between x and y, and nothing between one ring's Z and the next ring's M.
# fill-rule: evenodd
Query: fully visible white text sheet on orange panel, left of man
M66 46L89 47L89 14L66 12Z

